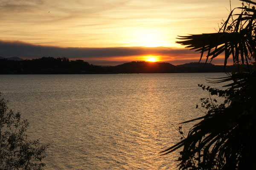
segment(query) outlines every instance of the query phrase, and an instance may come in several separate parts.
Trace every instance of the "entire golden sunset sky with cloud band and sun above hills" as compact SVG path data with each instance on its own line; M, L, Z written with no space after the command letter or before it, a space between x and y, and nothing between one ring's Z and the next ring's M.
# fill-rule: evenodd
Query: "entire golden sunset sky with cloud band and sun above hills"
M200 54L175 43L177 36L217 32L229 10L230 0L0 0L0 56L198 62Z

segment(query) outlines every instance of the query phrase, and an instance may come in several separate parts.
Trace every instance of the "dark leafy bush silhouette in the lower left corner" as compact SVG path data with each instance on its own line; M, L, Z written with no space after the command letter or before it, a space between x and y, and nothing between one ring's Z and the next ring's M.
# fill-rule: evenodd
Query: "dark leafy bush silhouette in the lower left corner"
M0 170L41 170L44 167L41 161L48 144L27 139L28 125L27 120L20 120L19 112L8 110L6 101L0 99Z

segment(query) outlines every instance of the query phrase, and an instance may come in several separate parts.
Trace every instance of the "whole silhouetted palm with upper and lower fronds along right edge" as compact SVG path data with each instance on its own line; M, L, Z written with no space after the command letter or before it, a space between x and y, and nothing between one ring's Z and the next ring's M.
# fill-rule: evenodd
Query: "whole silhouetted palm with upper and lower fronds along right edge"
M186 36L178 42L201 51L201 58L204 51L208 51L206 57L211 59L224 52L224 65L230 55L238 68L244 63L248 65L247 72L239 69L227 77L210 80L232 81L224 86L226 90L199 85L210 94L209 98L201 99L201 107L207 109L205 116L182 122L201 120L185 139L162 152L167 154L183 147L178 159L180 169L256 169L256 71L249 69L249 63L255 64L256 10L252 5L256 3L244 2L246 6L243 3L241 8L235 8L241 13L231 11L218 33ZM213 95L224 98L224 102L218 105Z

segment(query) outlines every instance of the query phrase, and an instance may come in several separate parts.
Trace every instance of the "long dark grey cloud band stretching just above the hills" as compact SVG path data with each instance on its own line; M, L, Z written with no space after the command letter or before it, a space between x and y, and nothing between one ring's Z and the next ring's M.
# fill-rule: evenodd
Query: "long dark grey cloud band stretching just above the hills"
M38 58L43 56L68 58L105 58L141 55L164 55L177 57L192 55L193 51L172 47L111 47L111 48L62 48L55 46L33 45L20 41L0 40L0 55Z

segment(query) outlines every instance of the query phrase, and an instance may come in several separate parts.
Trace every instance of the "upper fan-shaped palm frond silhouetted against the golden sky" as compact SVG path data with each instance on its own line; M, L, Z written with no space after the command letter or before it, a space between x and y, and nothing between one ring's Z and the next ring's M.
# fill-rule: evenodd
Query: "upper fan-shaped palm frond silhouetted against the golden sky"
M248 0L247 2L251 1ZM235 9L242 11L240 14L233 14ZM177 39L181 41L176 42L181 45L186 45L186 48L191 48L191 50L199 51L201 53L199 62L204 52L208 51L206 62L209 57L211 57L210 59L212 60L224 52L224 67L226 67L227 59L231 54L235 64L239 63L240 54L242 64L246 62L246 64L249 65L253 51L256 51L256 9L246 7L235 9L230 12L229 17L218 33L178 36ZM234 15L238 15L238 17L230 23L230 18Z

